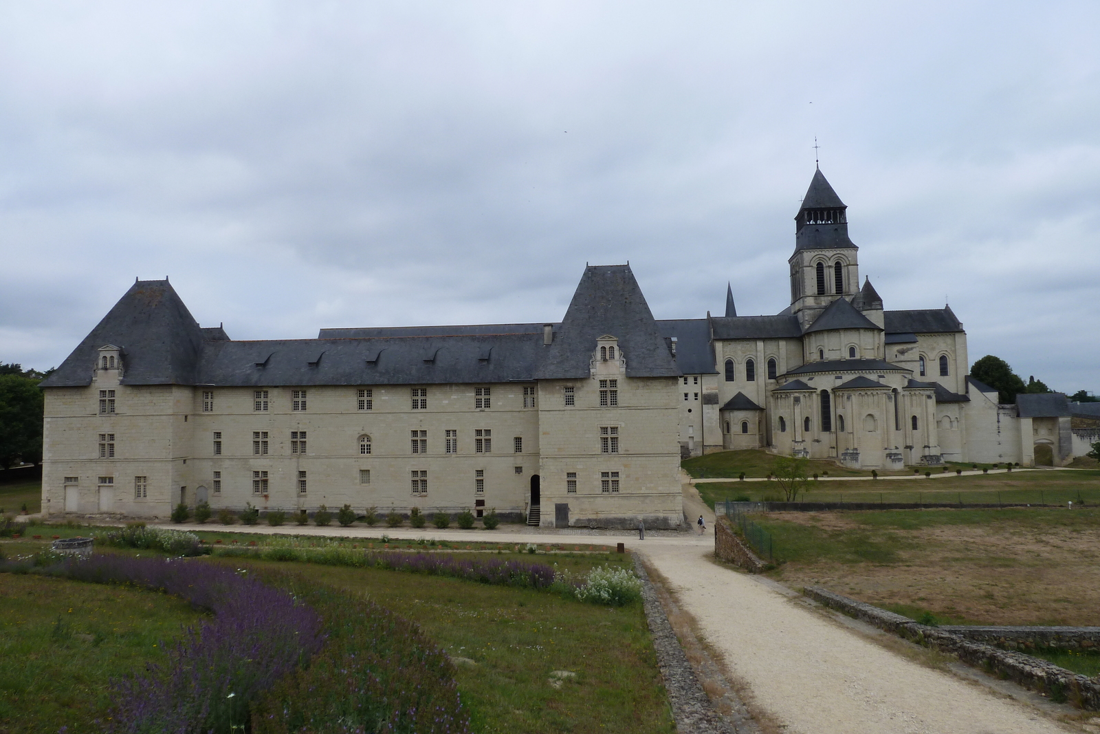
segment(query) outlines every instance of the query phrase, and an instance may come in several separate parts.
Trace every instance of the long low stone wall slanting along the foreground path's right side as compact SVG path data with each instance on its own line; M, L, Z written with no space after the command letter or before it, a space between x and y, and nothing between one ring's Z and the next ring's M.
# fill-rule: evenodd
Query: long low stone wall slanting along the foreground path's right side
M1043 691L1055 701L1068 701L1090 711L1100 710L1100 679L1080 676L1053 662L992 645L971 642L960 634L948 632L954 627L930 627L872 604L849 599L821 587L806 587L806 596L831 609L862 620L880 629L892 632L925 647L950 653L964 662L987 672L1014 680L1034 690ZM1026 629L1027 627L1018 627ZM1057 627L1056 627L1057 628ZM986 627L990 629L990 627ZM999 629L1004 629L1000 627ZM1087 629L1087 628L1086 628Z

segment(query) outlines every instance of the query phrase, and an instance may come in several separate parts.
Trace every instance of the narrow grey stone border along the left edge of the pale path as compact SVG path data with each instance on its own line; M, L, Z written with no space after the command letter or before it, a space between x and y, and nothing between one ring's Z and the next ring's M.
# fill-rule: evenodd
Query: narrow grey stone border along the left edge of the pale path
M676 633L672 631L669 617L664 613L653 582L650 581L646 568L638 554L634 556L634 570L641 579L641 600L646 609L646 621L653 638L653 649L657 651L657 665L664 679L664 689L669 693L669 705L676 722L680 734L737 734L723 721L714 704L695 677L688 656L680 646Z

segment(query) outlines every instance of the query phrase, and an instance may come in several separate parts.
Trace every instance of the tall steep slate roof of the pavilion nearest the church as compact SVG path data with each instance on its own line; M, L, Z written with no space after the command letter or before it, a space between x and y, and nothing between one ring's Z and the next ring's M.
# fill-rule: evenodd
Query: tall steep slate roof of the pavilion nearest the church
M630 377L679 376L668 343L657 328L629 265L590 265L561 320L560 335L544 349L536 376L541 380L588 376L596 339L618 338Z

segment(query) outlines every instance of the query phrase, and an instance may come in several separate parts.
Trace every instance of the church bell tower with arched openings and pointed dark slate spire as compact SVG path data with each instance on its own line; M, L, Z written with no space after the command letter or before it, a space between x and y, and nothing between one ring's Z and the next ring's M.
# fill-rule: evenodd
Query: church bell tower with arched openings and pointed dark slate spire
M859 293L857 248L848 239L848 207L821 168L794 217L791 265L791 313L805 329L838 297Z

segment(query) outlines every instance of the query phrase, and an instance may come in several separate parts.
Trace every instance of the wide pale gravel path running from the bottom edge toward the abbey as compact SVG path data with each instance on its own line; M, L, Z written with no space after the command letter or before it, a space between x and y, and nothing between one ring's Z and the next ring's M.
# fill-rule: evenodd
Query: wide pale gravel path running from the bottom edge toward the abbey
M637 548L671 579L730 672L799 734L1054 734L1040 712L902 658L752 578L710 543Z

